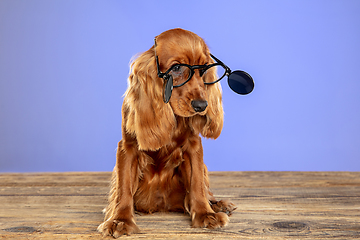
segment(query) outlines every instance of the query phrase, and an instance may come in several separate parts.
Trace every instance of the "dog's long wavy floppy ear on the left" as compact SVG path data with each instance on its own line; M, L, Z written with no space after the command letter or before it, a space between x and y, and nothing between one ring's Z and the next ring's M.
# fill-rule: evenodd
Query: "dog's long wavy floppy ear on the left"
M156 150L170 143L176 120L170 104L163 101L154 47L132 62L128 84L123 131L135 135L140 150Z

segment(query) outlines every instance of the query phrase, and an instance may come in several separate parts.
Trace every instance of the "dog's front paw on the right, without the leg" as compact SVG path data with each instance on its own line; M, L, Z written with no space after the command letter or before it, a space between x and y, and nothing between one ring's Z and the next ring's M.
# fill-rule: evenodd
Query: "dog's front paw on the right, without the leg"
M210 229L226 226L229 217L223 213L194 213L192 218L192 227L206 227Z

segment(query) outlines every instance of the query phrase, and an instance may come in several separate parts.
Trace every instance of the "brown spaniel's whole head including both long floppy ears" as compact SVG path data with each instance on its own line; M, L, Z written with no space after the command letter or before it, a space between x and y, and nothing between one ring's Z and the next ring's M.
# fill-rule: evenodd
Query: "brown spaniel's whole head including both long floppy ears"
M217 138L223 126L221 87L220 83L204 84L205 79L208 82L217 79L216 69L211 68L205 74L195 69L191 79L175 87L169 103L165 103L164 79L158 76L155 54L161 72L176 64L213 63L204 40L192 32L172 29L157 36L156 46L131 64L124 101L128 116L123 119L126 122L123 130L136 135L140 149L155 150L171 142L177 125L175 116L180 116L189 118L190 128L195 133ZM176 71L173 72L177 74ZM176 77L173 81L178 85Z

